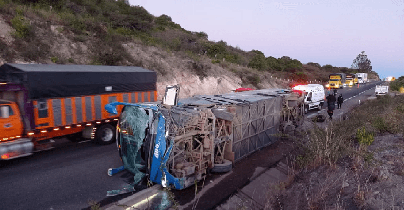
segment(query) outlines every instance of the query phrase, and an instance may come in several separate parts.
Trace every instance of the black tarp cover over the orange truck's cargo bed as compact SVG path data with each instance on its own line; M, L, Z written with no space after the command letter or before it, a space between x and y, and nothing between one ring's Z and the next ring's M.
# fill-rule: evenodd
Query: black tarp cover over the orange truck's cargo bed
M0 81L22 84L29 99L156 90L156 72L132 66L10 64Z

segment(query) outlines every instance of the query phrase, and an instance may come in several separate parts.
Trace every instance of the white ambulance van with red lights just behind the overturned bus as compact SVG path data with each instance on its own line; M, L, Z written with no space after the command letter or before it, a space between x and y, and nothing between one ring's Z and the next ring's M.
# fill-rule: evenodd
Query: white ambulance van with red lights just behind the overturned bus
M302 90L306 93L304 102L306 103L304 112L309 110L318 109L321 110L325 101L325 90L321 84L308 84L298 85L293 87L294 90Z

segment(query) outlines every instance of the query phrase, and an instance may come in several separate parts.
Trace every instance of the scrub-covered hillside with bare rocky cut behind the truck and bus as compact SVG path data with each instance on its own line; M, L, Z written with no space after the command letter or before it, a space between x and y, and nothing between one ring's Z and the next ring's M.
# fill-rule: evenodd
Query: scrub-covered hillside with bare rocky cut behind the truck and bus
M324 83L329 73L355 70L209 41L203 31L187 31L124 0L16 2L0 0L0 64L140 66L158 73L159 99L166 85L179 84L180 97L188 97L286 88L292 80Z

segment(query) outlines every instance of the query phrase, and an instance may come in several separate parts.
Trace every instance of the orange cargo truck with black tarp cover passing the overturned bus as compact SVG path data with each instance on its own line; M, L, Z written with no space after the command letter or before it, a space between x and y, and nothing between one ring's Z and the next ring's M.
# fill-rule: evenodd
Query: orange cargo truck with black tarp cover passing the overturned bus
M114 142L119 113L104 106L156 101L156 81L156 72L140 67L3 64L0 160L51 148L64 137Z

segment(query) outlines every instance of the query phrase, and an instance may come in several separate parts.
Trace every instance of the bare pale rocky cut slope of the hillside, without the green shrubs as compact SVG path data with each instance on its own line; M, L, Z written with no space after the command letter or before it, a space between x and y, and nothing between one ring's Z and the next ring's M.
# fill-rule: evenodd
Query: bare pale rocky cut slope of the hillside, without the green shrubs
M36 37L38 39L42 38L37 42L47 42L46 54L53 56L45 55L44 57L38 57L38 60L29 61L22 59L19 56L21 52L17 52L19 49L16 48L16 42L20 41L11 36L14 29L10 26L10 18L0 14L0 49L4 49L0 53L0 64L94 64L92 59L94 57L94 48L98 47L95 45L97 42L88 40L77 42L77 36L66 31L63 26L49 24L40 27L41 25L38 23L40 20L35 19L30 20L30 22L37 27L35 31ZM26 45L29 45L29 43L26 43ZM181 88L180 98L200 94L220 94L240 87L252 87L251 85L243 85L243 78L240 76L241 72L252 70L246 67L226 62L215 64L212 63L211 59L203 55L190 58L181 52L171 53L136 41L124 42L120 43L120 45L129 54L129 60L131 60L121 62L122 65L141 66L157 72L158 99L162 99L166 85L179 84ZM38 50L42 51L43 49L39 49L38 46ZM35 53L35 51L31 53ZM105 52L105 54L108 54L108 52ZM61 58L66 58L66 61L61 61ZM227 68L223 68L223 66ZM227 69L232 69L232 71ZM286 81L272 79L269 73L263 74L263 77L260 78L261 82L259 84L262 88L287 88L288 86Z

